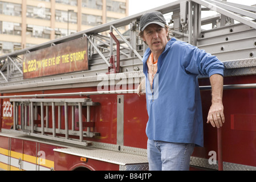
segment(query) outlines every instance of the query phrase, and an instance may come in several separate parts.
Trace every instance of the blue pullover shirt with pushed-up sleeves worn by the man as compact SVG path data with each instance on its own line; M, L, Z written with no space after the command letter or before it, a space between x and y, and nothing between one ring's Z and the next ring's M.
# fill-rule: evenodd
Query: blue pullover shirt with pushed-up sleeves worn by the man
M216 56L172 38L158 59L151 89L147 67L150 53L148 48L143 56L143 71L147 80L148 138L204 146L197 76L223 76L224 64Z

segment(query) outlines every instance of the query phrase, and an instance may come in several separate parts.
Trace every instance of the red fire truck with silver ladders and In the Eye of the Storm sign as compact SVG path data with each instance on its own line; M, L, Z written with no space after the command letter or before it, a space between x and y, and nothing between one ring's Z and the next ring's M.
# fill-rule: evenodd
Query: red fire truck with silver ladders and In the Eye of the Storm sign
M198 76L205 142L190 169L255 170L256 7L180 0L152 11L226 68L221 130L206 124L210 84ZM1 169L148 170L145 95L136 94L144 13L0 56Z

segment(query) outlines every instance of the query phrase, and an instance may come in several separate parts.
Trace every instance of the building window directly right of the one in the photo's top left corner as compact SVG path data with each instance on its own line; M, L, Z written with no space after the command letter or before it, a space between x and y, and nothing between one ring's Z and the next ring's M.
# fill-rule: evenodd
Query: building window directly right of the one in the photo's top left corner
M38 19L51 19L51 10L44 7L43 3L39 6L27 6L27 17L28 18L38 18Z

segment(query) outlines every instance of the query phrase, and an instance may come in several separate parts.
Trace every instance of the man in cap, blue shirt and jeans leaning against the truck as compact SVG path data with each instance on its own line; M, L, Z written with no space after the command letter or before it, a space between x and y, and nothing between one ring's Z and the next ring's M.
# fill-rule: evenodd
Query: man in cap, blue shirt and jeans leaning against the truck
M140 28L140 36L149 46L143 56L149 170L189 170L194 146L204 143L197 76L208 75L212 85L207 123L221 127L225 122L224 65L204 50L168 40L168 27L160 12L144 14ZM141 93L141 85L137 92Z

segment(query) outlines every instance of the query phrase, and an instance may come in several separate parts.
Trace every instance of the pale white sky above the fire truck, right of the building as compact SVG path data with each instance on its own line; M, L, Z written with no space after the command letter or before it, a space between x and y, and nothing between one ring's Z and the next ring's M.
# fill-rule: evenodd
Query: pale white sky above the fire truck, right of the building
M147 11L155 7L166 5L177 0L129 0L129 15ZM242 5L255 5L255 0L227 0L227 2L238 3Z

